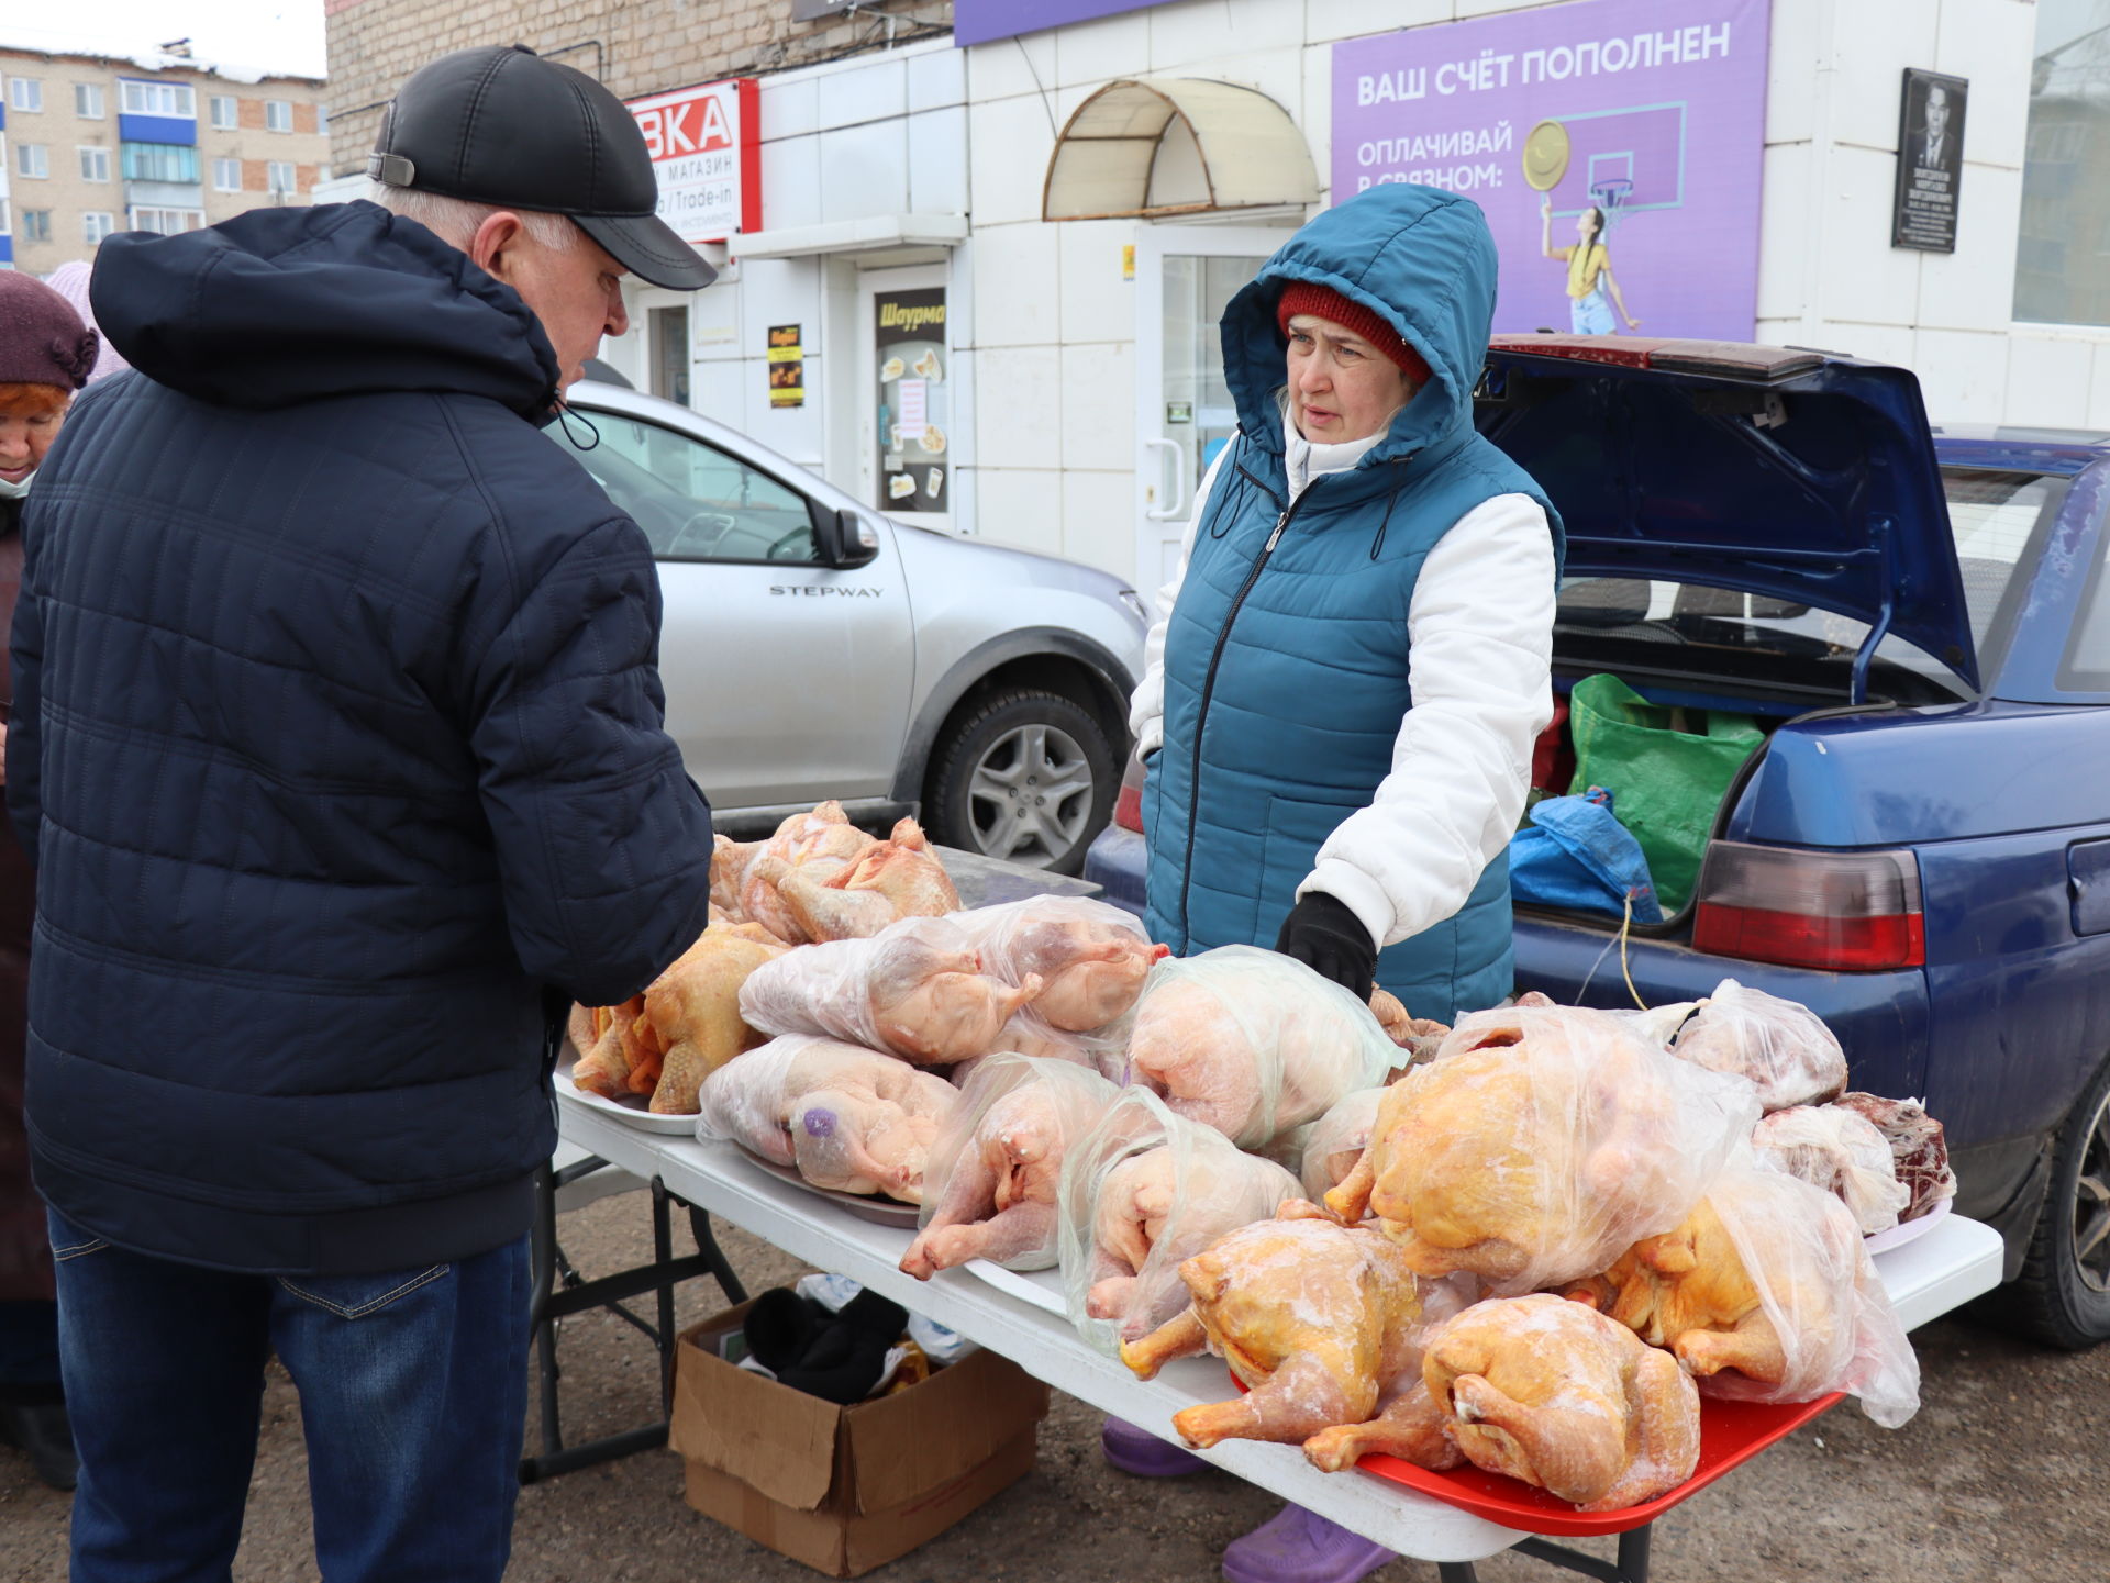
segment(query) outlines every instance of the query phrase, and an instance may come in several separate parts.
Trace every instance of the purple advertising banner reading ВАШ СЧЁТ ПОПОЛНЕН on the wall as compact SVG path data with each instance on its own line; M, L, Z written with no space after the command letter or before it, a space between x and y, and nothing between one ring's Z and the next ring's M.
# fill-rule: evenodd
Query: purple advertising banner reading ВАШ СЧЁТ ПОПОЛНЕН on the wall
M1477 202L1496 331L1747 341L1768 19L1576 0L1336 44L1334 202L1384 181Z

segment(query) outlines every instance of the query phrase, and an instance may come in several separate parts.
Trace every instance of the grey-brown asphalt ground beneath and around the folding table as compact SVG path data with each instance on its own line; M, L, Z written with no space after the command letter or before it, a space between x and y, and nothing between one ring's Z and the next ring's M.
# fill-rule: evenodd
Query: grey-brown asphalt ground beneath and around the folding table
M603 1199L563 1218L584 1273L648 1254L646 1199ZM751 1290L800 1273L785 1254L722 1231ZM686 1233L677 1231L677 1248ZM694 1282L682 1322L722 1301ZM1924 1406L1884 1431L1850 1404L1827 1412L1656 1524L1658 1583L2104 1583L2110 1577L2110 1347L2053 1353L1967 1320L1914 1332ZM650 1421L658 1368L650 1345L610 1315L563 1330L570 1440ZM167 1425L181 1454L181 1425ZM530 1427L530 1440L534 1429ZM1228 1473L1135 1480L1099 1459L1099 1414L1057 1395L1032 1475L876 1583L1211 1583L1224 1545L1279 1501ZM1285 1452L1287 1454L1287 1452ZM0 1450L0 1579L63 1579L70 1497L42 1488ZM1606 1558L1612 1541L1576 1541ZM241 1583L316 1579L300 1402L272 1366L264 1398ZM690 1511L679 1461L665 1450L521 1490L513 1583L795 1583L817 1572ZM1572 1577L1528 1556L1479 1564L1485 1583ZM1395 1562L1374 1583L1435 1583L1435 1566Z

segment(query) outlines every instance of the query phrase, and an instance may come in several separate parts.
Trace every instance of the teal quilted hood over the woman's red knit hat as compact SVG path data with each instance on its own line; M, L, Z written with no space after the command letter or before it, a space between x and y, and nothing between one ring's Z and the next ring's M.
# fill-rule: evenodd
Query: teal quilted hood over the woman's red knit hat
M1274 306L1293 280L1331 287L1374 310L1428 363L1428 384L1393 417L1390 434L1357 466L1397 462L1473 428L1473 386L1494 325L1494 236L1479 204L1386 183L1327 209L1283 242L1224 310L1224 377L1245 436L1283 447L1274 392L1287 348Z

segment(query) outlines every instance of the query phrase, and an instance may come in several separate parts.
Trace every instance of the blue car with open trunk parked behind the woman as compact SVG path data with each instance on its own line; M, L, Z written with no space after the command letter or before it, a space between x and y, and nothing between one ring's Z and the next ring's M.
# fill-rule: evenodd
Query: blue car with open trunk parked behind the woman
M1684 908L1623 951L1519 904L1517 989L1802 1001L1943 1121L1998 1317L2110 1338L2110 434L1931 430L1901 369L1639 337L1500 337L1477 413L1568 525L1555 691L1764 731ZM1085 873L1139 906L1131 809Z

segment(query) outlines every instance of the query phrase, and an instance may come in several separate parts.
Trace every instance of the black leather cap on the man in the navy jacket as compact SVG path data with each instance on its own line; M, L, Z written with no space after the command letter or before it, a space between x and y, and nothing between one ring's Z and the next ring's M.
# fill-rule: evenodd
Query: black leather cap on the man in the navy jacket
M411 72L382 112L367 175L390 188L570 215L656 287L694 291L717 278L654 213L652 154L622 101L525 44L464 48Z

